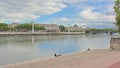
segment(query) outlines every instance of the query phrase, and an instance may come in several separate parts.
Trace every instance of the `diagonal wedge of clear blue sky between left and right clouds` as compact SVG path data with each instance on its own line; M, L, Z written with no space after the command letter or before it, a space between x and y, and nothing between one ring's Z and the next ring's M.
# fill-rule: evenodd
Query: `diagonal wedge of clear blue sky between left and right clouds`
M74 11L74 8L67 7L62 11L56 12L54 14L45 15L36 19L37 22L45 23L46 20L51 20L55 18L74 18L76 17L77 11Z

